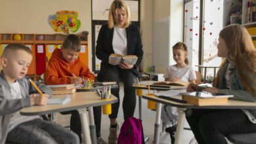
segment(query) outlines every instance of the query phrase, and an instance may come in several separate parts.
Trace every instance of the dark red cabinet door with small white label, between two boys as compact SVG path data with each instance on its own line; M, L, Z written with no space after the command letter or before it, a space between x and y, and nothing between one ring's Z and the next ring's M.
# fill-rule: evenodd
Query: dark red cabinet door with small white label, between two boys
M39 44L35 45L35 57L36 57L36 74L42 75L46 71L46 55L45 55L45 45Z

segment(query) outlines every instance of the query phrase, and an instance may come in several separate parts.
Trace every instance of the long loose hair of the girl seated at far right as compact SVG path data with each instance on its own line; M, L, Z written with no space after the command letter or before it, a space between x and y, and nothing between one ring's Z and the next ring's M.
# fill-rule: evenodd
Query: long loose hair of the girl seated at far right
M238 76L242 84L252 95L256 94L256 88L249 84L256 73L256 50L251 35L244 26L234 24L221 30L219 37L224 39L229 50L228 59L234 62ZM223 65L221 65L223 67ZM219 79L219 73L217 75Z

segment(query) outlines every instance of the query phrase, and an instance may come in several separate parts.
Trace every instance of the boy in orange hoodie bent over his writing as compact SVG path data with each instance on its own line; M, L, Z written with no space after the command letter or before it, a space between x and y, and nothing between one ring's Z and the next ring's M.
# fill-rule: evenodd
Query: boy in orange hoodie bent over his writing
M81 42L77 35L68 35L63 42L62 48L56 48L49 60L45 84L80 84L81 77L94 80L95 76L89 68L78 59ZM73 76L76 76L75 78ZM70 76L70 77L66 77ZM70 130L74 131L81 141L81 122L78 111L69 111ZM100 137L101 107L93 107L95 116L96 136L98 143L106 143Z

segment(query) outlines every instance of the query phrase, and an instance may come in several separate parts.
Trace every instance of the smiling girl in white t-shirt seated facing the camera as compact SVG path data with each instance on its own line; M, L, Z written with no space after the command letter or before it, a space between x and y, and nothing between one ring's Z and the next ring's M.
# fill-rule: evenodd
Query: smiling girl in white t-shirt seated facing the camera
M165 81L177 81L181 79L186 82L196 82L196 73L194 69L188 65L188 49L182 42L178 42L173 46L173 59L175 65L167 67L163 77ZM176 132L176 125L178 119L178 112L176 107L163 105L161 120L165 126L165 131L169 132L171 136L171 143L174 143L174 134Z

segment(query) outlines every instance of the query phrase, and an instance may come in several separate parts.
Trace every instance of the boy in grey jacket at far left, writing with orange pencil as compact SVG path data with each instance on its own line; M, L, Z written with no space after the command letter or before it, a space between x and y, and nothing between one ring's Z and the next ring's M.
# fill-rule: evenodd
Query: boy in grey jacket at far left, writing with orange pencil
M2 55L0 74L0 143L79 143L77 135L66 128L41 120L39 116L20 115L20 109L31 105L46 105L51 90L37 84L44 94L37 94L28 77L32 62L30 48L8 45Z

